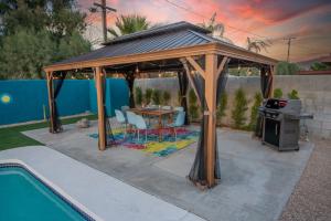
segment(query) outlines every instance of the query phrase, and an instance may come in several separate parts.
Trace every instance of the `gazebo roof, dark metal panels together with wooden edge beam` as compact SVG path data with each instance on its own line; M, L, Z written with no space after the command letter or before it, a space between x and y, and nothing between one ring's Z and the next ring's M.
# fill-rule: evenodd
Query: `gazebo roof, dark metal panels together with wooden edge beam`
M104 43L105 46L102 49L54 63L53 65L45 67L45 70L64 71L70 70L71 67L92 67L90 62L98 63L109 59L127 57L139 54L152 54L157 52L167 52L180 49L204 49L204 51L214 49L218 50L220 54L228 55L232 59L239 59L263 64L275 64L277 62L270 57L253 53L243 48L212 38L207 35L209 33L210 31L205 29L182 21L116 38ZM154 57L158 60L157 56ZM173 59L175 57L178 56L173 56ZM121 62L110 62L109 65L131 62L135 61L124 60ZM102 62L102 64L105 65L108 63Z

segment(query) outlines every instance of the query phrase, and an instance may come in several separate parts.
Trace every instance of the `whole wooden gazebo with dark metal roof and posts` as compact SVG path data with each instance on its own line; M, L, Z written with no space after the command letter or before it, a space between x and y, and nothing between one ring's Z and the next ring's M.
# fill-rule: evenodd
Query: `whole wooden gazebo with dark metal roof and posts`
M72 57L44 67L47 75L51 133L56 128L56 94L54 78L64 78L73 70L94 72L97 87L99 149L107 146L106 120L104 108L103 82L106 74L124 73L135 76L139 72L178 71L184 72L193 88L196 75L204 82L202 105L205 131L201 144L204 155L199 167L205 172L201 183L207 187L215 185L216 168L216 93L217 83L225 69L229 66L256 66L260 69L265 97L273 91L273 74L276 60L249 52L209 35L210 32L188 22L178 22L147 31L119 36L105 43L105 46L87 54ZM199 92L196 92L199 93ZM221 143L222 144L222 143ZM196 162L197 164L197 162ZM200 180L201 181L201 180Z

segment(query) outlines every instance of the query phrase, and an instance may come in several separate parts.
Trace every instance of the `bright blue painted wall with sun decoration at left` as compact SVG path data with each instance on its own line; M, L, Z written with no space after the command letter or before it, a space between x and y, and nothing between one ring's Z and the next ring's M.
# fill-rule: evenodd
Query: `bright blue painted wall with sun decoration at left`
M128 104L128 88L124 80L108 78L106 85L107 114L114 116L115 108ZM65 80L57 104L61 116L97 113L94 81ZM0 125L43 119L43 106L49 115L44 80L0 81Z

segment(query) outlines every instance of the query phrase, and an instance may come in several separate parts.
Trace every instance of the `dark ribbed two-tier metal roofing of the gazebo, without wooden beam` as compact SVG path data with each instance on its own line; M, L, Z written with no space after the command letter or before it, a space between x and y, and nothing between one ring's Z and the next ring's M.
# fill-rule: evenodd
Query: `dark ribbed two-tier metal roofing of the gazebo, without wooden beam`
M116 38L104 43L104 48L57 62L51 66L189 48L209 43L218 43L244 53L255 54L243 48L212 38L207 35L209 33L211 33L209 30L189 22L177 22ZM266 57L260 54L256 55ZM271 61L269 57L266 59Z

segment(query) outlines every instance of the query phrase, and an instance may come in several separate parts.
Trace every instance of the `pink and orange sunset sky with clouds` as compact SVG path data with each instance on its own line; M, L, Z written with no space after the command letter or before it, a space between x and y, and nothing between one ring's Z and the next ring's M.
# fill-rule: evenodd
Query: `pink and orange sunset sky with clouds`
M87 11L93 0L77 0ZM95 0L99 2L100 0ZM107 0L117 13L108 14L108 27L116 15L138 13L151 23L206 22L214 12L225 24L225 36L246 48L247 36L273 44L264 54L286 60L288 36L295 36L291 61L331 53L331 0ZM87 38L100 39L100 14L88 15Z

